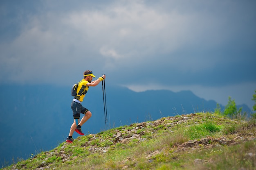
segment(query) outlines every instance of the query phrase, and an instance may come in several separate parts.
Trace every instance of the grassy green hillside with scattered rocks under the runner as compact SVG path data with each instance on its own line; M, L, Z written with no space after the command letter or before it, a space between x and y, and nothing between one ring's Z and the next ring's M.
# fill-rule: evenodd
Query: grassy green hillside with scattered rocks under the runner
M256 166L256 119L212 113L164 117L80 136L4 168L246 169Z

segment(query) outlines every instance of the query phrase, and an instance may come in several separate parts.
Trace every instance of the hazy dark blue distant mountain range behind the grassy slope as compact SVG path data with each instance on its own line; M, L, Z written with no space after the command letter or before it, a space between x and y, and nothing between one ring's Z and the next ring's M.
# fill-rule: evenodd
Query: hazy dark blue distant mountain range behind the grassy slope
M0 163L55 148L65 141L73 122L71 87L54 85L0 85ZM92 117L82 126L85 134L157 120L161 117L214 111L216 102L204 100L190 91L150 90L133 92L124 87L106 86L108 122L105 124L101 85L90 87L83 106ZM251 113L247 105L243 111ZM224 106L221 106L224 109ZM78 135L74 133L74 138Z

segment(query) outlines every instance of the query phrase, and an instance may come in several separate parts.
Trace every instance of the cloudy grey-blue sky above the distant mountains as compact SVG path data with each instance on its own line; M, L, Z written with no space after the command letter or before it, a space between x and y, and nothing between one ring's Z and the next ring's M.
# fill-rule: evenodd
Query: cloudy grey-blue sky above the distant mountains
M255 104L256 1L0 0L0 84L72 85Z

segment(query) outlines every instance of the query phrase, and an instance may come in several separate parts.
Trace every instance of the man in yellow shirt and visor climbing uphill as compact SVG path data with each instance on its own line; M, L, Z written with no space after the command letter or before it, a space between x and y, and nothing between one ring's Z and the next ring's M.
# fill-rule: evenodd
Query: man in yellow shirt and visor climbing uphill
M74 96L73 101L71 102L71 109L73 111L74 122L70 127L70 133L66 139L66 142L72 143L73 138L72 135L74 131L79 133L80 135L84 135L81 131L81 126L92 116L92 113L82 106L83 98L88 91L90 86L97 86L101 81L106 78L106 75L99 77L97 80L92 81L92 78L95 77L92 74L92 71L86 70L83 73L83 79L79 82L78 87L76 89L76 96ZM80 121L80 113L83 113L84 116Z

